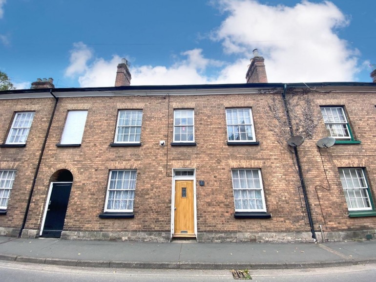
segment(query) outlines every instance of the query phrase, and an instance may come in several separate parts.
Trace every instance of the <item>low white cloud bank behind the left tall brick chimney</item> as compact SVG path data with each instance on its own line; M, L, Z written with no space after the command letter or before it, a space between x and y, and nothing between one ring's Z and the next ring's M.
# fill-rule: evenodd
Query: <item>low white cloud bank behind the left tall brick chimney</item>
M111 60L96 58L93 51L84 43L75 43L71 50L70 65L65 69L65 75L77 78L80 87L106 87L115 83L117 65L121 58L114 55ZM131 85L180 85L207 84L213 79L204 74L208 66L221 66L222 62L206 59L201 49L183 52L185 60L178 60L172 66L131 66Z

